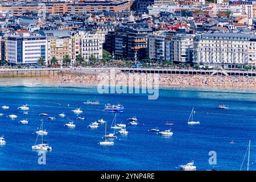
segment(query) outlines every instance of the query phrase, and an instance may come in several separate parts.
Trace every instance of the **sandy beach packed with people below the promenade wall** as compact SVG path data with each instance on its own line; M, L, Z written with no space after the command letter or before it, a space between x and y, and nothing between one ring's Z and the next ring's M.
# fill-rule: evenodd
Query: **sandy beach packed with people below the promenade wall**
M144 79L143 79L144 78ZM141 86L142 82L155 82L154 77L146 76L134 82ZM105 78L109 81L109 78ZM0 78L0 86L75 86L86 87L98 85L102 81L98 75L69 75L60 74L55 77L22 77ZM129 84L127 80L117 78L115 84ZM200 90L229 90L232 92L256 92L255 77L206 76L206 75L159 75L159 87L168 89L200 89ZM111 85L111 84L110 84Z

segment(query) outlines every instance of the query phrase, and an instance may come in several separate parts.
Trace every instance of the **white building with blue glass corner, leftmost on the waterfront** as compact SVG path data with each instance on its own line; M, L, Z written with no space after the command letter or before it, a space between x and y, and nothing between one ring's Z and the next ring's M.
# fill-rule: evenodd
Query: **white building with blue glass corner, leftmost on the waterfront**
M46 37L15 35L7 38L7 60L11 64L36 64L46 60Z

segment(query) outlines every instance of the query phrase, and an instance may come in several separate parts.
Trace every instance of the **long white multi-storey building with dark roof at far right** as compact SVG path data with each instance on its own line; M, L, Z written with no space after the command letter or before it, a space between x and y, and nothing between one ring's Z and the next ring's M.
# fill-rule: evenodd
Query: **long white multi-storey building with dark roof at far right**
M219 68L256 65L256 37L241 33L205 33L195 43L194 62Z

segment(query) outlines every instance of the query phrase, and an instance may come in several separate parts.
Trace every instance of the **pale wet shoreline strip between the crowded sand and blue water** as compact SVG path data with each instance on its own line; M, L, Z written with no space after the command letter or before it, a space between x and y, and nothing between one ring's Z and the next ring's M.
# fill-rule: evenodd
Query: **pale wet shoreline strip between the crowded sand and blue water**
M12 83L10 83L10 81ZM16 78L0 78L0 87L55 87L55 88L94 88L98 83L79 83L65 82L56 83L50 77L16 77ZM109 86L112 87L112 86ZM128 88L128 86L127 86ZM134 86L138 88L138 86ZM141 87L140 87L141 88ZM214 86L164 86L159 85L159 90L184 90L184 91L203 91L203 92L229 92L229 93L256 93L256 88L229 88Z

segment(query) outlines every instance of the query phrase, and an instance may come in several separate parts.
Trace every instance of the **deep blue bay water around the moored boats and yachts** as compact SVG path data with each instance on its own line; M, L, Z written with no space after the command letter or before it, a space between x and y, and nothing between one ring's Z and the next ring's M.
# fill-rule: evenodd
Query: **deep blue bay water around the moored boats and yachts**
M218 170L239 170L251 139L250 169L255 170L256 156L256 94L201 92L184 90L160 90L158 100L147 100L142 94L97 94L96 88L28 88L23 86L1 87L0 105L10 109L0 113L0 135L6 145L0 146L1 170L177 170L180 164L195 160L197 170L212 168L208 163L208 152L217 152ZM83 104L87 100L98 100L99 106ZM106 113L106 103L120 103L124 113L117 115L117 122L128 123L127 118L137 116L139 125L128 126L127 136L116 134L114 146L100 146L104 125L89 129L90 122L104 118L108 121L108 133L114 113ZM28 104L28 115L16 109ZM225 104L229 110L216 109ZM69 105L69 106L68 106ZM77 121L71 110L80 107L87 118ZM187 120L192 107L194 118L200 125L189 126ZM75 129L63 125L67 118L74 119ZM46 165L38 164L38 153L31 150L40 127L40 113L56 117L55 121L44 119L49 134L44 137L52 146L46 154ZM9 114L18 118L10 119ZM28 119L28 125L18 121ZM174 135L163 137L148 131L153 127L160 130L167 121ZM235 144L230 144L234 140ZM247 157L243 170L246 169Z

